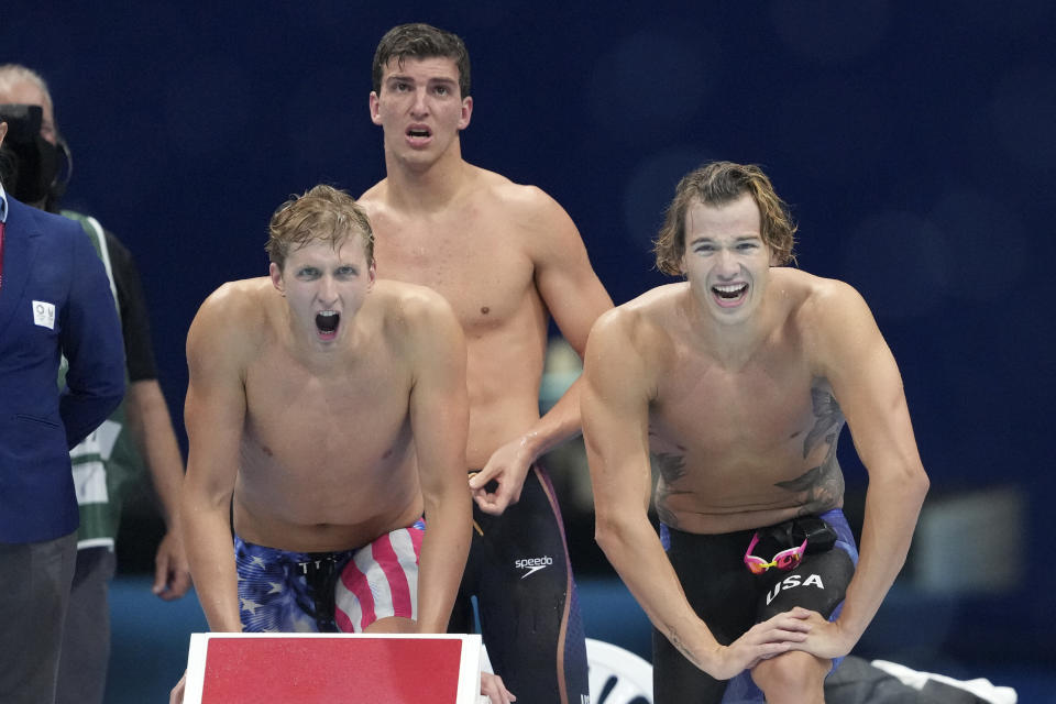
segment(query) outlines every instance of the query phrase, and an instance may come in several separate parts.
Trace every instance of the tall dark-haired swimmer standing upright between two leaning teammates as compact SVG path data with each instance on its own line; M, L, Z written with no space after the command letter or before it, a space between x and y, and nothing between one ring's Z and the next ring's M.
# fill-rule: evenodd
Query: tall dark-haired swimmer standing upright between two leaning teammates
M590 696L583 626L557 497L537 462L580 432L580 385L540 418L539 384L549 318L582 354L612 300L561 206L462 158L473 99L461 38L428 24L386 33L370 109L386 177L361 202L377 232L378 272L443 295L466 338L476 530L451 628L472 628L475 595L501 675L485 681L493 704L513 701L510 691L530 704L581 704Z

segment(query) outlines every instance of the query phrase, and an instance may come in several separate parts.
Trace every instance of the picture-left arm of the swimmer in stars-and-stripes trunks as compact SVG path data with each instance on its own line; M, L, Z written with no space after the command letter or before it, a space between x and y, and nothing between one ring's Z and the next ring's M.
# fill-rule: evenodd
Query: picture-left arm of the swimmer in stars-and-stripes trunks
M221 315L215 296L202 305L187 334L184 419L189 449L180 515L191 576L209 628L239 631L229 507L245 418L243 343L232 332L239 329L234 316Z

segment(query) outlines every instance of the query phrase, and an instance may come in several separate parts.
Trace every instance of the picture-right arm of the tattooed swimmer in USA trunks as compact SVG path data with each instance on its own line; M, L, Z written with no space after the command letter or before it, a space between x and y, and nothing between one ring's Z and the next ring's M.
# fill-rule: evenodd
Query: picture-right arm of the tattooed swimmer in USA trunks
M858 641L905 562L927 493L898 365L872 314L850 286L834 283L815 300L807 341L869 473L860 560L837 625L842 652Z

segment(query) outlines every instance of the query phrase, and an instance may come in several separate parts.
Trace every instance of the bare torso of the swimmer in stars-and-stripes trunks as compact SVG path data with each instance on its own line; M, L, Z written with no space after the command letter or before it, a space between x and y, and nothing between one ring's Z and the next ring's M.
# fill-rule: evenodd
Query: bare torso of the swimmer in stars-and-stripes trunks
M312 369L292 353L285 301L257 280L235 531L258 544L323 551L409 525L422 510L407 405L413 370L383 322L384 287L356 314L355 354Z

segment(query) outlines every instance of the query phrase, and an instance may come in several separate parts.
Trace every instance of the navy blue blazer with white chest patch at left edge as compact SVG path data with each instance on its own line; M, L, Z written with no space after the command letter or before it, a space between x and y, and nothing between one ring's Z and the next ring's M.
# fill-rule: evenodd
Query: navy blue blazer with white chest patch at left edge
M69 449L124 395L110 282L80 224L8 195L0 286L0 542L76 530ZM69 370L59 393L62 355Z

